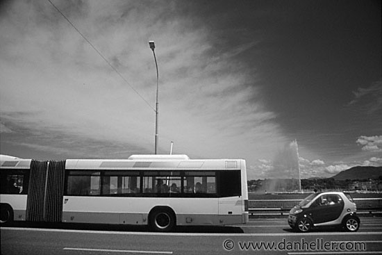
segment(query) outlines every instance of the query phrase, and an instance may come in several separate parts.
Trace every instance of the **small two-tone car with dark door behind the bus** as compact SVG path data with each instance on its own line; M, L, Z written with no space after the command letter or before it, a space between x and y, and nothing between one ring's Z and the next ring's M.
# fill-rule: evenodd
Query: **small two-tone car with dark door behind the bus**
M290 210L288 224L299 232L329 226L340 226L355 232L360 227L356 211L356 204L347 193L316 192Z

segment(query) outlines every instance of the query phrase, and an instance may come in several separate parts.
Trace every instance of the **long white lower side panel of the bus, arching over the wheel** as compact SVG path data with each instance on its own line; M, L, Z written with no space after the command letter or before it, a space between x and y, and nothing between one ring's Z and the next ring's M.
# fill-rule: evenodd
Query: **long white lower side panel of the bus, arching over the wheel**
M149 212L155 206L172 208L177 225L222 224L217 198L175 197L65 196L63 222L147 224Z

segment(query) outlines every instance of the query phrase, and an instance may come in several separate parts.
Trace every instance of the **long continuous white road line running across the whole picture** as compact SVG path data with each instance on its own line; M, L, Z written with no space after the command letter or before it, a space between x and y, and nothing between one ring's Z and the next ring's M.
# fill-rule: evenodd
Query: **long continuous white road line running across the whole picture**
M76 229L31 229L7 227L0 228L3 230L16 231L45 231L45 232L66 232L66 233L99 233L109 235L131 235L131 236L382 236L382 231L376 232L310 232L310 233L158 233L158 232L123 232L123 231L93 231L93 230L76 230Z

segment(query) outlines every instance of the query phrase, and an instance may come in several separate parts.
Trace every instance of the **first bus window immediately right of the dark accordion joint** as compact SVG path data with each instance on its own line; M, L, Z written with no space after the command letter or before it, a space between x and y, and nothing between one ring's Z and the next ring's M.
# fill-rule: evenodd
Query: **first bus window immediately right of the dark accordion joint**
M100 195L100 172L70 171L67 176L66 195L97 196Z

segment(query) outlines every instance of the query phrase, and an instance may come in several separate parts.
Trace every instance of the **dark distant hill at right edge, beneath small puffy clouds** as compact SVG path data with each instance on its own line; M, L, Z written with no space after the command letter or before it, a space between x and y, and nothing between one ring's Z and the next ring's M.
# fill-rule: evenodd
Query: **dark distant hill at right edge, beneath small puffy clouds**
M339 172L332 178L335 180L364 180L378 179L379 176L382 176L382 167L351 167Z

